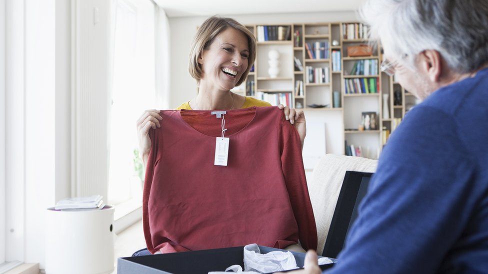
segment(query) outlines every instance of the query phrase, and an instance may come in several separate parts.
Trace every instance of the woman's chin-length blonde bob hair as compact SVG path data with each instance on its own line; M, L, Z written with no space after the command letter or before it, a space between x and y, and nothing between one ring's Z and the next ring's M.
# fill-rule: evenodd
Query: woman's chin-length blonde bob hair
M198 57L201 56L203 49L207 49L211 45L215 37L228 27L233 27L234 29L242 32L247 37L247 46L249 47L247 68L244 73L242 73L242 76L240 76L240 79L237 82L236 86L240 85L247 77L249 69L252 67L252 64L254 64L254 61L256 59L256 38L254 37L252 32L250 32L245 26L232 18L211 16L206 19L198 28L195 38L191 43L188 71L191 77L196 79L197 83L200 82L203 73L203 69L198 63Z

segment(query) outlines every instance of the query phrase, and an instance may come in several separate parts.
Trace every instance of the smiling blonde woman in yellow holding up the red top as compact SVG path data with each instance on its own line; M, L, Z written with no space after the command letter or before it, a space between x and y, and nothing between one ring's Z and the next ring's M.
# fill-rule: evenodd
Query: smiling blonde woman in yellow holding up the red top
M245 26L232 18L207 18L197 30L189 54L188 72L197 82L198 93L177 109L230 110L270 106L268 102L230 91L245 81L255 58L256 39ZM306 134L303 111L279 107L283 109L286 120L298 131L303 147ZM137 121L139 153L144 165L151 147L149 129L160 127L161 119L159 110L151 109Z

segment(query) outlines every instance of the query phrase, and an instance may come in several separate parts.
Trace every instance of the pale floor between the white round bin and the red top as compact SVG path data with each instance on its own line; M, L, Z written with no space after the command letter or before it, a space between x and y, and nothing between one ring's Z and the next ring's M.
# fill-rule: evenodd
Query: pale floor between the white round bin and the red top
M126 230L120 232L116 236L114 244L115 269L112 274L117 273L117 258L130 257L135 251L145 248L142 221L138 221Z

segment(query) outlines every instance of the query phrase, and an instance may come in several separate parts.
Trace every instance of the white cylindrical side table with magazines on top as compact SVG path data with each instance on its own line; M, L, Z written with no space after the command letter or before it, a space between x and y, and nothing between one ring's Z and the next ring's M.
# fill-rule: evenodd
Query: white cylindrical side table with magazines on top
M114 207L82 211L47 209L46 274L113 272Z

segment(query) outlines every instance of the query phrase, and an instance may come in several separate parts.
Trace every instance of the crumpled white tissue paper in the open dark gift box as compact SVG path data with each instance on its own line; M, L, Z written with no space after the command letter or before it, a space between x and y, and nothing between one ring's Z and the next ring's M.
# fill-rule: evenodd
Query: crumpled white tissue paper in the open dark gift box
M332 264L329 258L319 258L318 265ZM239 265L233 265L225 269L225 272L209 272L208 274L224 274L229 272L242 274L274 273L285 270L297 269L295 257L291 252L272 251L261 254L256 244L244 247L244 271Z

